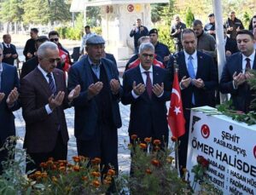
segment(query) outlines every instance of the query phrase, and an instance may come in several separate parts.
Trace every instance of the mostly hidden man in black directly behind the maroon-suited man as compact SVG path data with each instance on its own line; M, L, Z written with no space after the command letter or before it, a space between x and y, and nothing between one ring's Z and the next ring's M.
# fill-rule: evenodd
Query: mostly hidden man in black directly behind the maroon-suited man
M46 36L38 37L35 42L36 50L38 50L39 46L46 41L49 41L48 37ZM37 66L38 66L38 54L35 54L35 56L32 57L32 59L29 59L23 63L21 67L20 80L22 77L25 77L29 72L32 72Z

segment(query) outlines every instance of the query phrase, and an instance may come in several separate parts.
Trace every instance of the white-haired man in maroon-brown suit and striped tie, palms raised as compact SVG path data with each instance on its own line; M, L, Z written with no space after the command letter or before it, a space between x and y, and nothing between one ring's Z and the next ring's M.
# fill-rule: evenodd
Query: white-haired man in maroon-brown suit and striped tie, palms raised
M20 82L22 115L26 122L24 148L35 164L26 170L40 169L39 164L52 157L67 159L67 123L64 109L79 95L76 86L67 95L63 72L56 69L60 60L55 43L43 43L38 49L38 67Z

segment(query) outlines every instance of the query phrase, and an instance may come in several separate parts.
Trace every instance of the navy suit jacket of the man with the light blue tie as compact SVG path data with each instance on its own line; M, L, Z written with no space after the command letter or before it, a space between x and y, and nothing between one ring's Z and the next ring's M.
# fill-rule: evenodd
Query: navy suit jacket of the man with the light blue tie
M168 69L170 77L174 75L173 69L173 57L168 62ZM183 111L186 108L192 107L192 94L195 95L195 106L212 106L212 91L218 87L218 71L217 66L214 65L212 57L208 54L204 54L197 51L197 72L195 78L201 78L205 87L202 89L196 88L194 85L189 85L188 88L181 90L183 100ZM177 65L178 65L178 80L186 76L189 77L189 72L185 62L184 52L177 53Z

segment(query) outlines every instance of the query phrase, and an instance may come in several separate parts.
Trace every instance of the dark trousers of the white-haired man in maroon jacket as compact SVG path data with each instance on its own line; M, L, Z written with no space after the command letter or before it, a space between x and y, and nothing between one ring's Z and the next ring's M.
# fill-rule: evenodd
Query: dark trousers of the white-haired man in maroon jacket
M26 172L29 170L41 170L40 163L48 161L49 158L54 158L57 160L67 160L67 145L63 143L61 131L59 131L55 147L51 152L27 152L27 154L32 158L34 163L26 159Z

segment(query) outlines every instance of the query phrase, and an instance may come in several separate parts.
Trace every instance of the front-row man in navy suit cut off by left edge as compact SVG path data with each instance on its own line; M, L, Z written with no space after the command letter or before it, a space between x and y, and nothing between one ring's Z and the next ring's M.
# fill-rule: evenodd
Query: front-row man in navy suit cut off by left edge
M0 49L0 147L6 139L15 135L15 116L14 111L20 108L17 101L19 88L19 78L15 66L10 66L2 62L3 49ZM0 175L3 167L2 161L6 160L8 152L0 151Z

